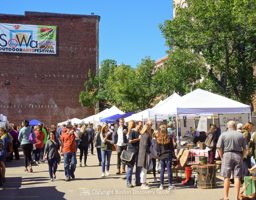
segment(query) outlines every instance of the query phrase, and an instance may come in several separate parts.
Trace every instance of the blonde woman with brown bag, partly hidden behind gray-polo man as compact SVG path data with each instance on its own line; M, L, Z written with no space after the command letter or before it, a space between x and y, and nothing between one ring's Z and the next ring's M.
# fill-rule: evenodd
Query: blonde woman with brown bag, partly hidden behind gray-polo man
M242 128L241 133L244 135L247 145L248 143L251 141L251 134L250 132L252 132L253 129L253 123L252 122L246 122L244 127ZM255 137L254 137L255 138ZM252 140L254 141L254 138L252 138ZM251 157L247 155L247 157L243 159L243 172L244 172L244 176L250 176L250 173L248 171L248 168L251 168Z

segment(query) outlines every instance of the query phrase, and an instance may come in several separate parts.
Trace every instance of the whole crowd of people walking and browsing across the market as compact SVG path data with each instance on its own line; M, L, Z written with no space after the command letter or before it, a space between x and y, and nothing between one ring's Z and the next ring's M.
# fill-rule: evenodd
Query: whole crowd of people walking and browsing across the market
M152 129L152 121L148 121L144 126L141 121L129 121L125 126L124 119L119 119L119 125L112 128L108 124L97 126L96 130L93 125L88 127L84 125L72 125L70 122L62 124L58 129L53 125L51 129L42 123L37 126L29 126L29 121L22 121L21 127L12 126L9 130L0 128L0 139L4 148L0 151L0 173L1 184L5 182L5 162L8 147L8 131L12 136L12 148L8 160L13 160L13 152L16 160L20 159L18 148L21 146L24 155L24 172L33 172L32 165L47 161L49 165L50 181L56 179L56 172L60 156L64 159L64 171L66 179L75 178L76 170L76 152L80 150L79 166L84 166L91 150L91 155L95 155L93 150L97 150L99 164L101 166L101 177L110 175L110 159L113 150L116 150L117 160L116 174L126 173L126 165L122 163L122 151L127 150L134 153L135 158L135 182L132 185L132 172L134 166L127 165L126 186L140 186L141 189L150 189L146 181L150 163L153 165L154 182L157 182L156 171L160 172L160 189L164 188L164 173L167 168L168 188L177 189L172 185L172 161L179 163L179 159L174 153L176 146L175 133L173 132L173 123L169 122L167 127L158 124L157 130ZM222 159L222 168L220 176L224 177L224 198L228 198L228 188L231 173L233 173L236 196L238 197L239 188L243 183L243 177L249 176L250 172L256 168L251 166L251 157L247 155L247 148L250 141L256 144L254 134L251 137L250 132L253 124L247 122L244 126L235 121L228 122L228 129L222 133L218 139L217 127L212 125L208 134L212 134L214 146L208 151L208 164L213 164L216 147L220 158ZM36 143L31 143L31 138L36 139ZM0 143L1 143L0 141ZM90 146L90 147L89 147ZM0 145L1 148L1 145ZM256 151L256 150L255 150ZM256 152L255 152L256 153ZM32 156L31 156L32 155ZM161 171L158 170L157 160L161 165ZM29 165L29 166L28 166ZM121 168L122 166L122 168ZM256 174L255 174L256 175Z

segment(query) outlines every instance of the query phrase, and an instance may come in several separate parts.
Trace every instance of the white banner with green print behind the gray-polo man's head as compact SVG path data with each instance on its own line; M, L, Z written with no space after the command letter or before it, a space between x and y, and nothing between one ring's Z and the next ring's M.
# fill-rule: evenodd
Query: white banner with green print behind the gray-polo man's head
M248 113L236 113L236 114L220 114L220 133L223 133L227 129L228 121L235 120L237 124L244 124L249 121Z

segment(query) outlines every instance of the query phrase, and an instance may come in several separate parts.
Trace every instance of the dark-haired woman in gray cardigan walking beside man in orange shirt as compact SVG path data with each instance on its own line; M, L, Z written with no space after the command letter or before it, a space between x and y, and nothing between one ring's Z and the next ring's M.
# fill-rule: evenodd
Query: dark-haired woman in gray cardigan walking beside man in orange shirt
M50 181L53 181L53 179L56 179L55 173L58 167L58 157L59 157L58 150L60 149L60 142L56 138L54 131L52 131L49 135L50 135L50 140L47 140L45 144L44 159L47 153L47 161L49 165L49 173L51 178Z

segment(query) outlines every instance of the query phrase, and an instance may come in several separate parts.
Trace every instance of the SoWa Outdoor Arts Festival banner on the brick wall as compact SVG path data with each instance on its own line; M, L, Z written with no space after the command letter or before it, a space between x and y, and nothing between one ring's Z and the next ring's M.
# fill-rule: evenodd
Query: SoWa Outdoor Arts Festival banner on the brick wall
M0 52L56 54L56 26L0 23Z

